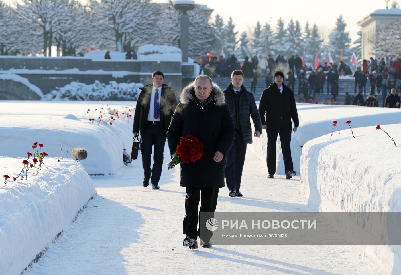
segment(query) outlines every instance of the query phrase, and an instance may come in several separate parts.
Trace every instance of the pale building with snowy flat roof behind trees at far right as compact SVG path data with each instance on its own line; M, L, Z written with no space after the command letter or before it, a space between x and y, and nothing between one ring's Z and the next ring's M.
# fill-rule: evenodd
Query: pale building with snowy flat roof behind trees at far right
M358 21L362 27L362 59L375 58L374 44L376 32L380 26L401 19L401 9L375 10L363 20Z

